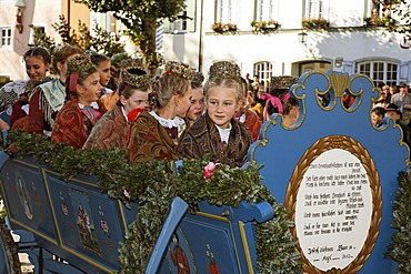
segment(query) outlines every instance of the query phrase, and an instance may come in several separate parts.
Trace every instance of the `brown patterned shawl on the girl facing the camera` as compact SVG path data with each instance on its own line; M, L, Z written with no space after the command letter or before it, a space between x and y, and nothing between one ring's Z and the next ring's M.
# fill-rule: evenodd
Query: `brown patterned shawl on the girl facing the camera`
M180 156L201 159L211 154L215 161L231 168L243 165L252 143L251 134L235 119L231 119L231 125L229 142L225 144L221 142L220 133L207 113L198 118L179 145Z

